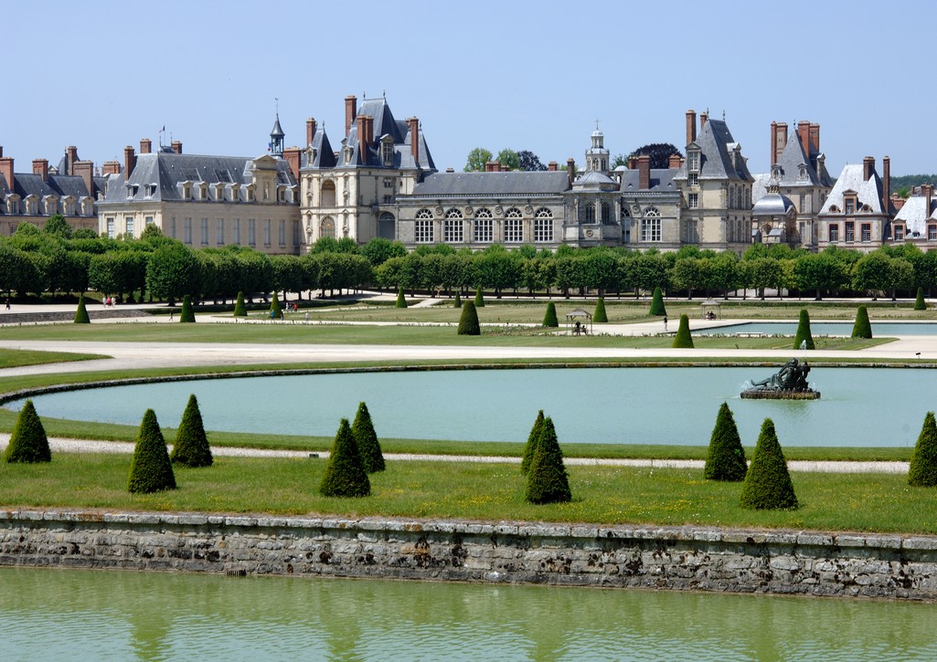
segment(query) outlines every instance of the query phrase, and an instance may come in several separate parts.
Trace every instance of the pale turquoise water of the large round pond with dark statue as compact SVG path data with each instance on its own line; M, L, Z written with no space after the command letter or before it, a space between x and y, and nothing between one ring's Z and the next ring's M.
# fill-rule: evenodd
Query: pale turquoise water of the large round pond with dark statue
M803 358L802 352L792 352ZM74 390L33 399L40 416L139 425L147 408L176 427L190 393L207 430L330 436L367 403L387 438L525 441L538 409L561 444L706 445L723 401L742 443L774 420L782 445L913 447L937 409L937 370L811 370L816 401L741 400L777 366L549 368L327 373ZM8 405L14 409L22 402Z

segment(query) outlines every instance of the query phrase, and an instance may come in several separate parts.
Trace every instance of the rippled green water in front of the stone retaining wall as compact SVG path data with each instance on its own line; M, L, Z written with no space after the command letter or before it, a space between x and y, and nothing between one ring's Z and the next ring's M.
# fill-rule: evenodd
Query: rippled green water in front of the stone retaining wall
M0 659L933 660L937 605L0 568Z

